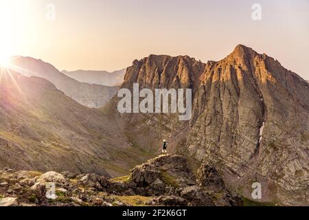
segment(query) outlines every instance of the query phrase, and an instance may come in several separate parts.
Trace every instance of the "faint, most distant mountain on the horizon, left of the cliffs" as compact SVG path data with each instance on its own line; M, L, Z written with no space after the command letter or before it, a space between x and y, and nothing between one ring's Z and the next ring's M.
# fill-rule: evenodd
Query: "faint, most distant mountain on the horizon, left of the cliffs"
M124 74L126 74L126 69L120 69L114 72L94 70L76 70L68 72L66 70L62 70L62 73L82 83L115 87L122 84Z

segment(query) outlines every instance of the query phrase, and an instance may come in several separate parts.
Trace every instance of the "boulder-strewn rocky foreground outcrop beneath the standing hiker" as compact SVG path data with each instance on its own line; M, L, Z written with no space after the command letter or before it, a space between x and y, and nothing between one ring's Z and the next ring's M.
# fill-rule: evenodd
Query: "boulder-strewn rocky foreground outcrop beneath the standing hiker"
M56 186L47 199L47 183ZM50 194L49 194L50 195ZM198 179L179 155L161 155L130 175L108 179L93 173L0 171L0 206L243 206L216 170L206 164Z

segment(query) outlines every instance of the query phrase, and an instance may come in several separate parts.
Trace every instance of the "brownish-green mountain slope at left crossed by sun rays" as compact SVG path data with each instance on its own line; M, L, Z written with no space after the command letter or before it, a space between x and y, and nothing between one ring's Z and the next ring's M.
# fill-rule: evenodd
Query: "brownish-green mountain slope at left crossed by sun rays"
M49 81L2 69L0 167L124 175L151 155L113 120L65 96Z

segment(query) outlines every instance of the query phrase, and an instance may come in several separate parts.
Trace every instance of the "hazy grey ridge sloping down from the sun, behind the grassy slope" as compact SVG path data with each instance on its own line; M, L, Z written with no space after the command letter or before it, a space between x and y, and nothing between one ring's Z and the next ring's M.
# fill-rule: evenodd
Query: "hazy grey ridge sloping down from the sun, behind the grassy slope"
M12 58L10 69L25 76L38 76L49 80L76 102L91 108L103 107L117 93L118 87L91 85L62 74L54 66L30 57Z

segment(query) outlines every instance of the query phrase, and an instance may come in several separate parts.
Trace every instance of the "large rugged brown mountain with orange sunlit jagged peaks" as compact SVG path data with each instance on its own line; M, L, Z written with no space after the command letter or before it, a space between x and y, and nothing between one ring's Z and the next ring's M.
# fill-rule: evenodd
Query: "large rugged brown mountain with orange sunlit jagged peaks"
M176 114L120 114L119 98L102 111L122 118L137 146L185 155L195 170L209 162L227 187L286 205L308 201L309 87L297 74L244 45L221 61L150 55L128 67L122 88L190 88L192 118ZM307 203L308 204L308 203Z

